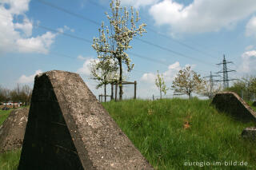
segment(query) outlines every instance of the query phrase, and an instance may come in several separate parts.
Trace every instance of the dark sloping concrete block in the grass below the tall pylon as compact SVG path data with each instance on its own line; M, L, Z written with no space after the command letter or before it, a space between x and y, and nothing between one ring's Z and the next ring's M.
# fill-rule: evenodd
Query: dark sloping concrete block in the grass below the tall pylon
M239 121L256 121L256 113L254 110L236 93L217 93L212 104L215 105L218 110L230 113L231 116Z

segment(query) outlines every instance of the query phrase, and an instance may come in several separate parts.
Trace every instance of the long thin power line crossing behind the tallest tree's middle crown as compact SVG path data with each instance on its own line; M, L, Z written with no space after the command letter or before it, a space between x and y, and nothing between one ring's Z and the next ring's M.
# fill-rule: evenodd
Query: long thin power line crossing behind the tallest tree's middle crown
M100 24L99 22L95 22L95 21L93 21L93 20L91 20L91 19L89 19L89 18L86 18L86 17L84 17L84 16L82 16L82 15L80 15L80 14L75 14L74 12L71 12L70 10L66 10L66 9L64 9L64 8L62 8L62 7L59 7L59 6L56 6L56 5L54 5L54 4L50 3L50 2L45 2L45 1L42 1L42 0L37 0L37 1L38 1L38 2L41 2L42 4L44 4L44 5L46 5L46 6L50 6L50 7L54 8L54 9L61 10L61 11L65 12L65 13L67 13L67 14L73 15L74 17L82 18L83 20L86 20L86 21L88 21L88 22L94 23L95 25L101 26L101 24ZM96 3L94 2L94 4L96 4ZM189 58L190 60L196 60L196 61L198 61L198 62L202 62L203 64L213 66L211 63L208 63L208 62L206 62L206 61L199 60L199 59L194 58L194 57L188 57L188 56L186 56L186 55L183 54L183 53L179 53L179 52L174 51L174 50L172 50L172 49L169 49L169 48L166 48L166 47L162 47L161 45L156 45L156 44L154 44L154 43L152 43L152 42L147 42L146 40L142 40L142 39L139 39L139 38L134 38L134 39L137 39L138 41L143 42L143 43L146 43L146 44L148 44L148 45L153 45L153 46L155 46L155 47L157 47L157 48L159 48L159 49L166 50L166 51L168 51L168 52L170 52L170 53L174 53L174 54L179 55L179 56L181 56L181 57L186 57L186 58Z

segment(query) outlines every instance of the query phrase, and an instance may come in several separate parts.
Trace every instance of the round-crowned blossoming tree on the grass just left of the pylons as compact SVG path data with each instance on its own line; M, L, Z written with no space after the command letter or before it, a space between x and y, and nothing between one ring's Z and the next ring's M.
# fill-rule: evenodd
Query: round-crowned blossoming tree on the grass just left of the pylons
M200 74L190 69L191 67L187 66L185 69L179 70L171 87L175 93L187 94L191 98L192 93L202 93L205 82Z

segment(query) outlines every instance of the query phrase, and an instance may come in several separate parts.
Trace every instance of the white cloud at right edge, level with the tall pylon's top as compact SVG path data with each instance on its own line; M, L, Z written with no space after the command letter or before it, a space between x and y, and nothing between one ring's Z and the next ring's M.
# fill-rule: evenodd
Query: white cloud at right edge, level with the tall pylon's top
M242 64L238 67L238 73L256 73L256 50L242 53Z

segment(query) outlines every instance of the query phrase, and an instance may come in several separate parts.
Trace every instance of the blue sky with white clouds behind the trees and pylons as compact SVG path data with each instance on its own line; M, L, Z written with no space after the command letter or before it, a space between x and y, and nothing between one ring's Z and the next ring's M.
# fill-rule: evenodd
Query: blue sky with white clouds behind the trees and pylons
M97 58L91 45L100 24L108 23L109 3L0 0L0 85L33 87L36 74L58 69L79 73L96 96L102 93L95 89L89 66ZM147 33L127 51L135 65L127 81L138 82L138 97L159 95L157 71L167 87L187 65L202 77L222 71L216 64L223 54L234 62L227 65L236 70L229 73L231 79L256 75L255 0L122 0L122 6L134 6L138 24L147 25ZM132 97L132 90L125 87L124 96Z

